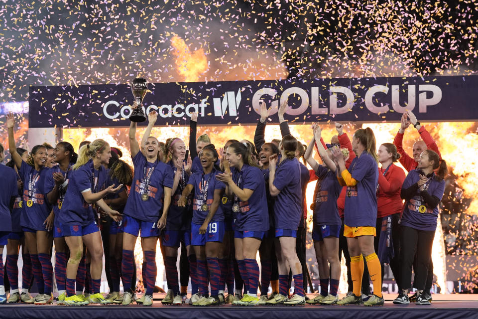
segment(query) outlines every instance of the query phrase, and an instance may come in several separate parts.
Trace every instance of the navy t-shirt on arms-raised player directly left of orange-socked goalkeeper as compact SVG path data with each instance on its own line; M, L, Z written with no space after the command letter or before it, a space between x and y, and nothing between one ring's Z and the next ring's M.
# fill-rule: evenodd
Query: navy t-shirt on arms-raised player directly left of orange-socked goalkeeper
M314 224L330 226L342 225L339 210L337 209L337 199L339 198L342 186L340 186L335 172L320 165L315 174L317 176L317 184L314 194L317 192L317 197L315 199L312 216Z

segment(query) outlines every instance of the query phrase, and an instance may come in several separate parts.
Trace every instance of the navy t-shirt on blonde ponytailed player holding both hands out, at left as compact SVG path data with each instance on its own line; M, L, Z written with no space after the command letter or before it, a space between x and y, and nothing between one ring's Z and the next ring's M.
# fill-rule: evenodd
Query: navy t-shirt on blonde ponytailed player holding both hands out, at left
M68 187L58 222L67 226L86 226L95 221L95 212L82 193L88 190L92 194L100 192L107 179L106 169L103 165L95 169L93 160L89 160L78 169L70 170L68 175Z

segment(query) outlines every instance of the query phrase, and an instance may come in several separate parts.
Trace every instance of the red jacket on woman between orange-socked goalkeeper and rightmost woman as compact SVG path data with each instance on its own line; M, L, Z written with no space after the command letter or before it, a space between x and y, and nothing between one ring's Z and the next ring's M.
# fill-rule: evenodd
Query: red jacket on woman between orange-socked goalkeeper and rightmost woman
M384 171L384 168L380 168L378 173L377 218L400 213L403 209L400 190L405 180L405 172L393 163L385 176Z

